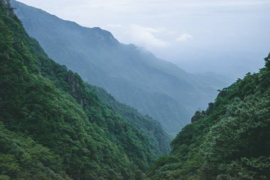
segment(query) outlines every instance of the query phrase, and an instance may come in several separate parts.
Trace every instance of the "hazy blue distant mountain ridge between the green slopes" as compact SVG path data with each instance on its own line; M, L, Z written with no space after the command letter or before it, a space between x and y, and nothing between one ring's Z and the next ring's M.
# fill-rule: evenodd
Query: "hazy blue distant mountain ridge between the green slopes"
M109 31L82 27L41 9L11 2L26 31L50 58L67 65L88 83L104 88L119 102L158 120L171 135L225 87L222 82L205 83L212 76L202 80L202 76L186 73L144 48L119 43Z

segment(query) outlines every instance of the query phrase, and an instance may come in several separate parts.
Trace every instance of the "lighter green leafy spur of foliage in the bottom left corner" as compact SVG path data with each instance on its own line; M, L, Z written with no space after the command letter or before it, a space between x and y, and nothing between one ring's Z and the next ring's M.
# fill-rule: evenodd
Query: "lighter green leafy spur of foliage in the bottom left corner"
M1 122L0 144L0 179L69 179L60 156Z

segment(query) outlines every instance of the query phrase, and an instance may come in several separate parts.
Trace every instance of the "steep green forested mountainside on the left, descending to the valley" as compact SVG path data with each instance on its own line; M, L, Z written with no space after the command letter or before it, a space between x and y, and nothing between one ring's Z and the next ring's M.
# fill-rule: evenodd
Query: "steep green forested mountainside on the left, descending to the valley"
M0 1L0 86L0 179L144 179L168 152L157 122L48 58L8 0Z

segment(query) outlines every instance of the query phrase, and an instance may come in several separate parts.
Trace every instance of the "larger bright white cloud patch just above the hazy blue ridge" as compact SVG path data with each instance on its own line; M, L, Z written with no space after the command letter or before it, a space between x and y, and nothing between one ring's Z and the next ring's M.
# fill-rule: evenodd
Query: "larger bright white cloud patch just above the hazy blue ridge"
M133 24L130 26L131 41L146 48L170 46L168 41L164 41L156 36L164 31L164 28L149 28Z

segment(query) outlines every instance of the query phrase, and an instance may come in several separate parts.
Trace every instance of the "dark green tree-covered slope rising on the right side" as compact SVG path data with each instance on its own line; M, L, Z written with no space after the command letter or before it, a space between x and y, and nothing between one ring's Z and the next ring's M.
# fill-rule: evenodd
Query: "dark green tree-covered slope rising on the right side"
M150 179L270 179L270 54L265 62L195 112Z

